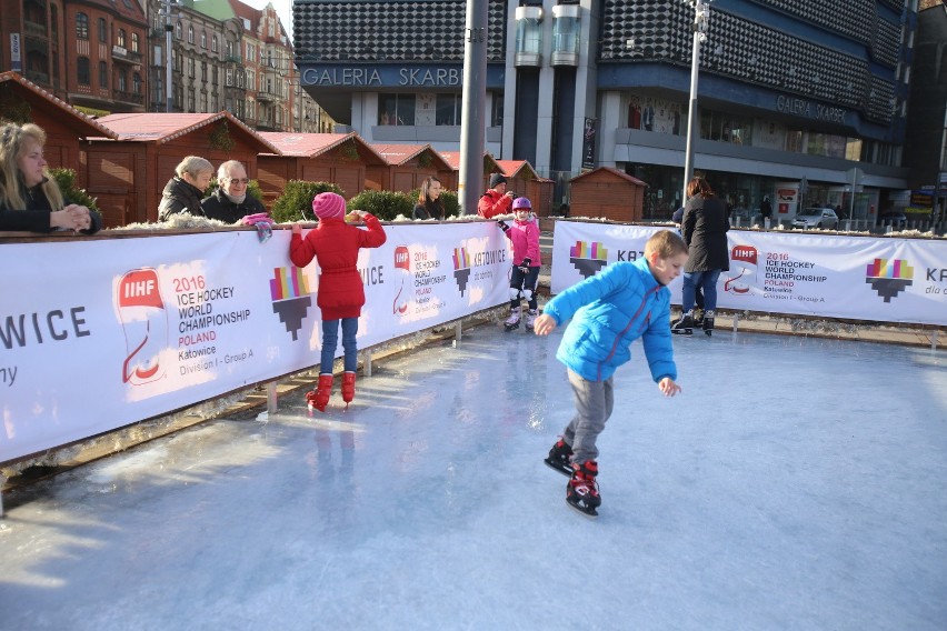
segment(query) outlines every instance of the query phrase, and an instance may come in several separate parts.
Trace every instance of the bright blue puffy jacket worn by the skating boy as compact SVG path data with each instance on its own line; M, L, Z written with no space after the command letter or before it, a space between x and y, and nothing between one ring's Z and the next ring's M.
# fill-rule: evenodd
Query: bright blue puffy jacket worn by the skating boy
M602 381L631 358L641 338L655 382L677 379L670 333L670 290L651 274L646 259L611 263L570 287L542 309L566 329L556 359L588 381Z

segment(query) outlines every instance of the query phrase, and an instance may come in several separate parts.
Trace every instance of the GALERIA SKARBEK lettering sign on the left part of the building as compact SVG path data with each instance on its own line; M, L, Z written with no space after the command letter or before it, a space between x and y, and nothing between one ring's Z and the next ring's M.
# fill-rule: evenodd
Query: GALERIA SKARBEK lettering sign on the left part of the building
M370 88L370 87L459 87L460 68L399 68L335 66L307 68L302 71L303 86Z

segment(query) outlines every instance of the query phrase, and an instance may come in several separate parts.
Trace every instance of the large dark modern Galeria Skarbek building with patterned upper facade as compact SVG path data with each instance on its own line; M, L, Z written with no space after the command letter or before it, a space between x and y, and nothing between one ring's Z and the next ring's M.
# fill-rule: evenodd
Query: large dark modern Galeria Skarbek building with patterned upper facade
M692 0L489 1L486 149L556 180L612 167L681 203ZM752 213L762 196L873 219L900 166L917 0L702 0L694 168ZM296 0L305 89L369 142L460 146L461 0ZM853 187L853 183L855 184ZM853 197L854 190L854 197Z

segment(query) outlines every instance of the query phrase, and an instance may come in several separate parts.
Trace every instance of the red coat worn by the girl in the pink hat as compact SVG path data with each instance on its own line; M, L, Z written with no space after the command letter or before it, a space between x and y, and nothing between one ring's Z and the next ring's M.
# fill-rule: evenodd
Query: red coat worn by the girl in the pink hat
M385 243L385 229L371 216L365 216L368 230L347 224L341 219L320 219L306 237L293 234L289 242L292 264L305 268L312 258L319 262L319 293L316 303L322 320L358 318L365 304L365 286L358 273L360 248L378 248Z

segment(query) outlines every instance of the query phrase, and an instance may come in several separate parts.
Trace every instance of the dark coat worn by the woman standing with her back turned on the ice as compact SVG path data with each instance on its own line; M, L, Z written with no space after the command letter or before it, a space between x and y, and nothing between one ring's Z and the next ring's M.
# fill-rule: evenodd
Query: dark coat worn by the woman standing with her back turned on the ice
M687 200L684 207L684 221L680 226L681 237L689 250L684 271L729 270L730 254L727 249L729 229L727 207L719 198L696 196Z

